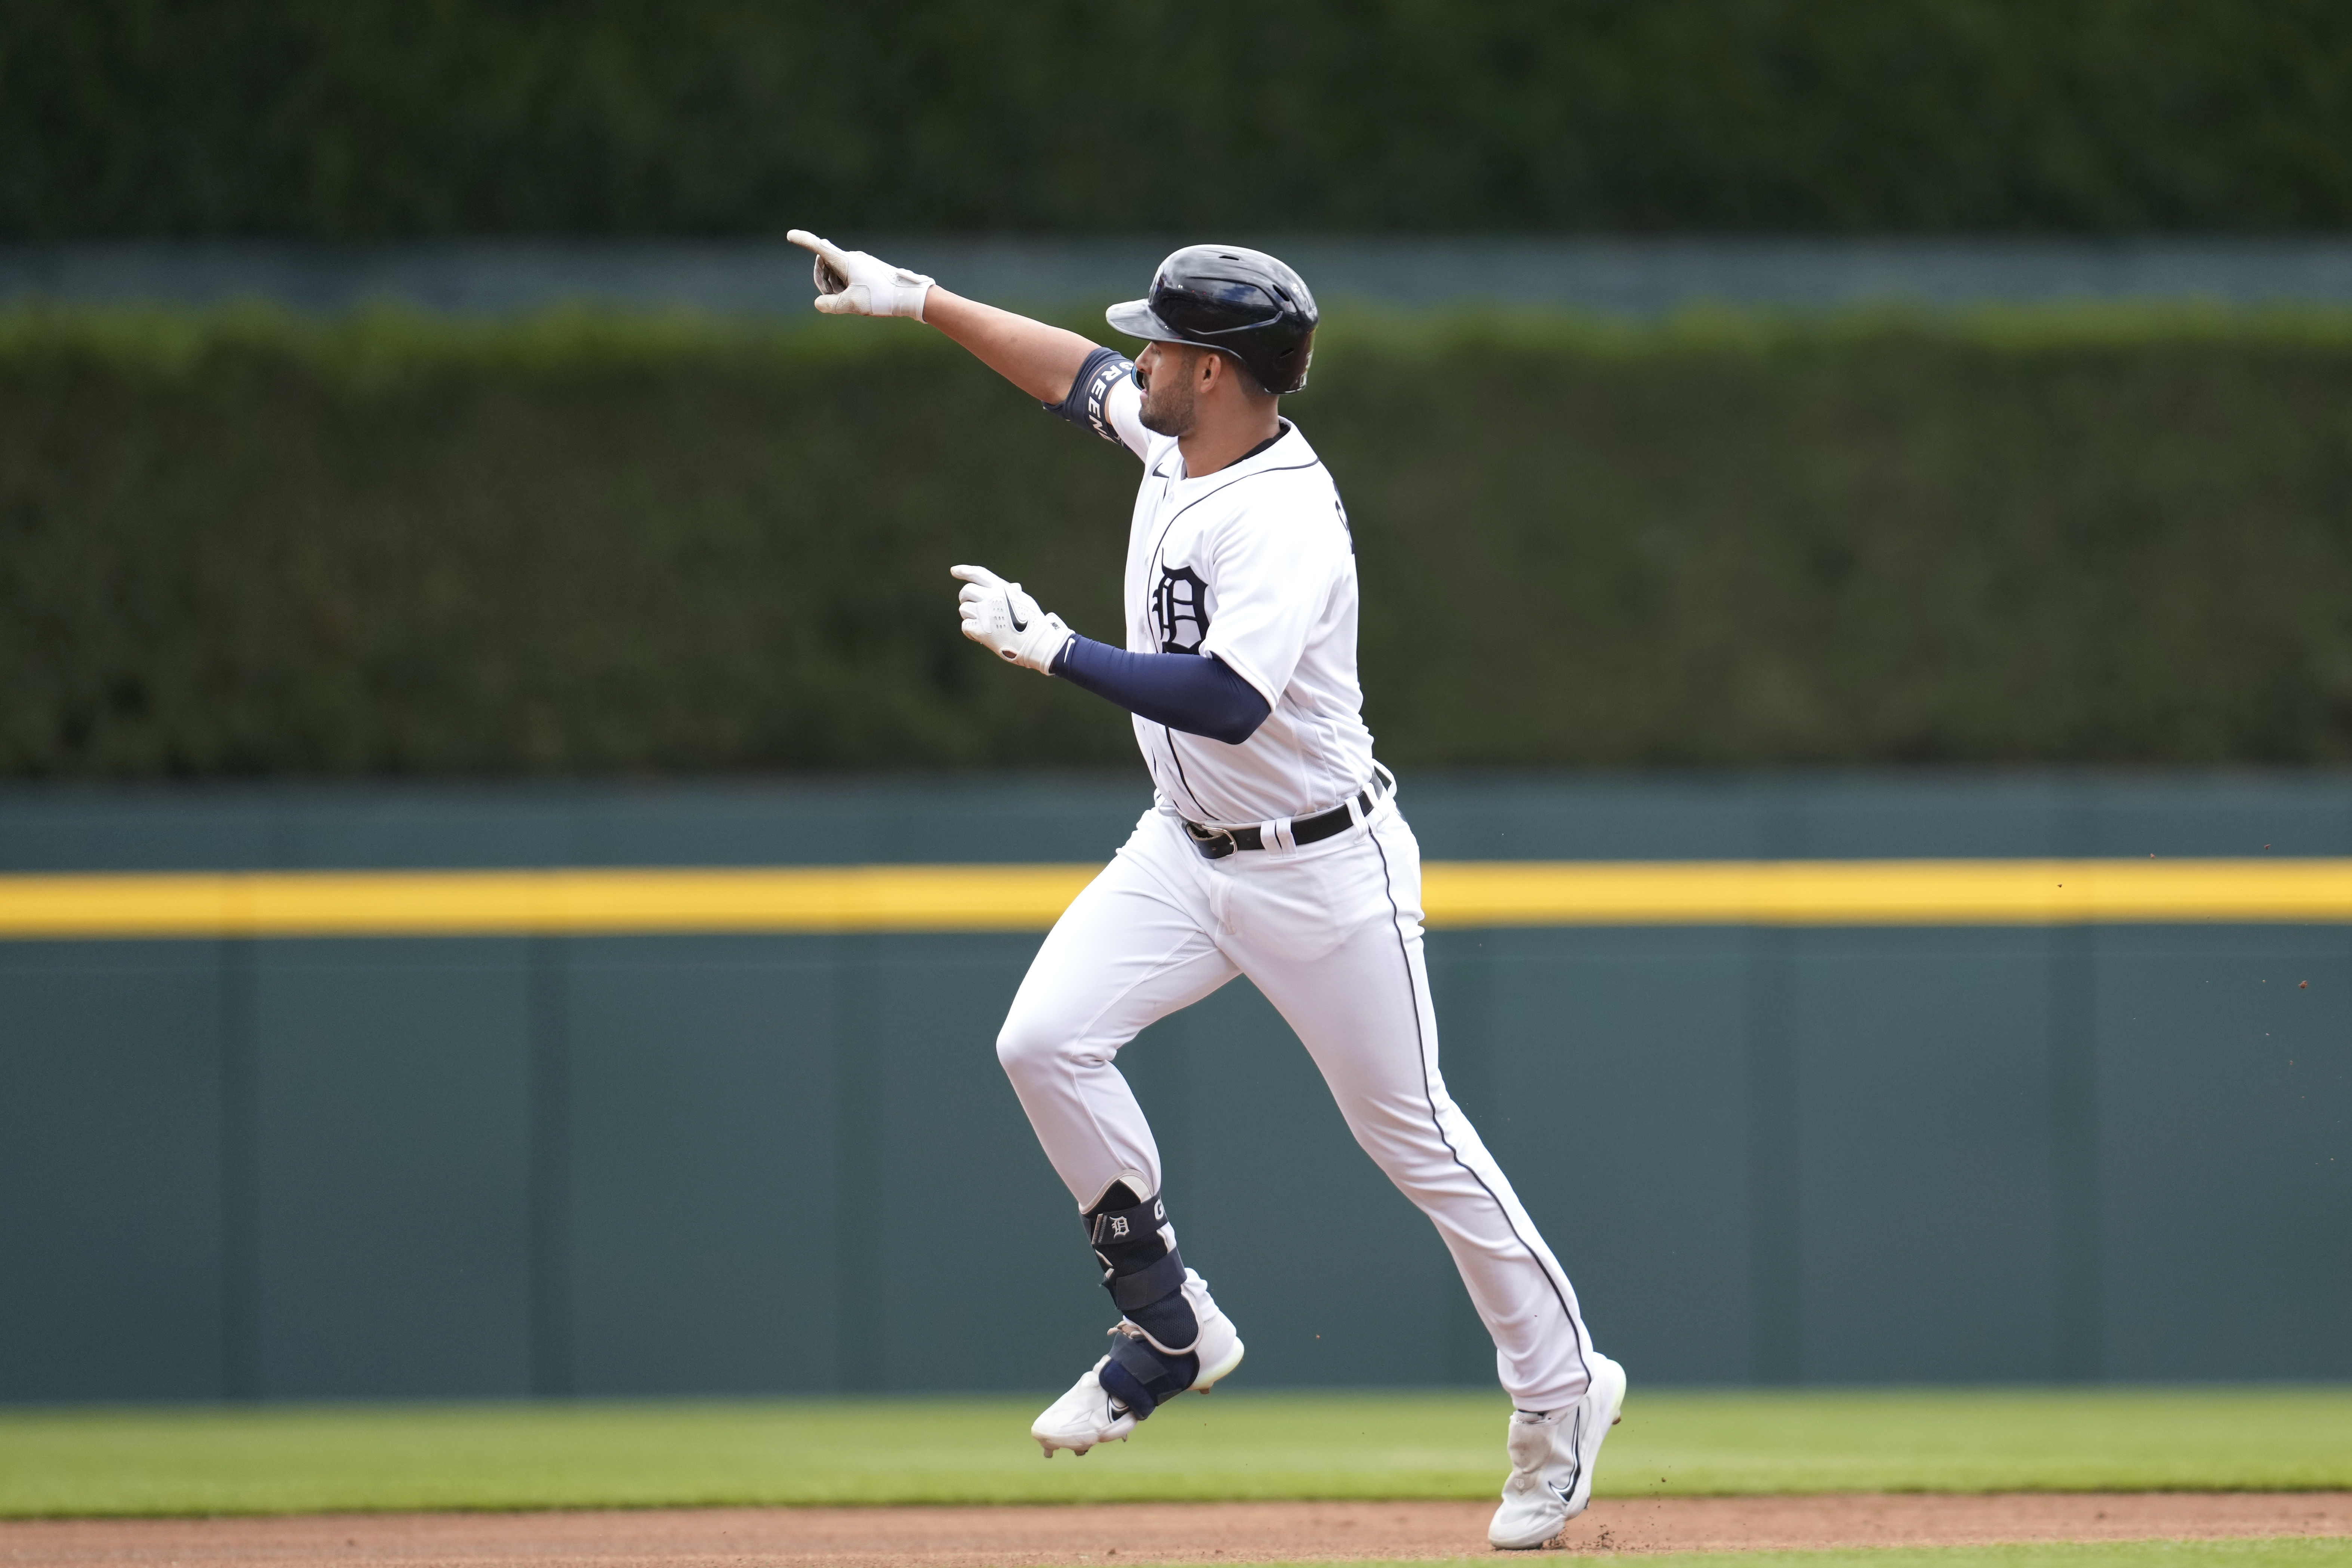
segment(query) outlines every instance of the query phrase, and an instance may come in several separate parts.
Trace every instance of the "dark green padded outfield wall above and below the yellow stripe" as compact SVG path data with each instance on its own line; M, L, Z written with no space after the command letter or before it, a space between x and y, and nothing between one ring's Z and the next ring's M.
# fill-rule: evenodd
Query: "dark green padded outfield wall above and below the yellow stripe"
M1117 776L0 795L9 879L1084 863ZM2352 856L2338 773L1418 776L1432 860ZM1049 1389L1105 1326L993 1037L1033 931L0 943L0 1399ZM1430 936L1646 1382L2347 1378L2352 924ZM1482 1385L1235 983L1122 1058L1279 1385ZM967 1345L941 1340L943 1314Z

